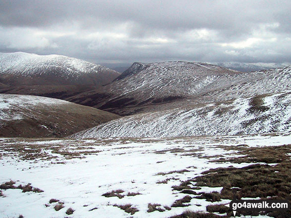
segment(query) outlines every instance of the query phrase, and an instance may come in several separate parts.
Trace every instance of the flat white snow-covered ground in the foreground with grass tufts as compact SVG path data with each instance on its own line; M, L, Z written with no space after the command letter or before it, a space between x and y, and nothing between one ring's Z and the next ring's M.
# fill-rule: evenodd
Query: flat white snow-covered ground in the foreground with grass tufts
M15 185L31 183L44 192L2 190L5 197L0 197L0 218L20 214L25 218L166 218L186 209L206 211L206 206L214 203L194 198L188 207L147 212L149 203L171 207L175 200L184 197L186 194L171 188L183 180L201 175L210 168L251 164L211 163L222 156L237 156L236 151L218 145L260 147L284 145L290 141L290 134L280 133L168 139L1 138L0 184L9 180L16 181ZM195 155L185 156L190 153ZM183 172L171 172L179 170ZM168 183L157 183L165 179L169 179ZM123 198L102 196L117 189L124 191L120 193L125 195ZM204 187L200 191L220 189ZM140 194L126 196L128 192ZM63 202L64 208L56 211L57 203L49 203L53 198ZM130 215L113 206L127 203L138 212ZM75 211L68 216L65 212L69 207Z

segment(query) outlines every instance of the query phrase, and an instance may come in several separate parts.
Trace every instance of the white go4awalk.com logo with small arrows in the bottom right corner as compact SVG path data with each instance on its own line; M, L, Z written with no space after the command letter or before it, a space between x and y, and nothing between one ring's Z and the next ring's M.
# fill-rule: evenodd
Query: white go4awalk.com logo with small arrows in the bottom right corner
M235 216L237 211L288 211L291 204L288 200L236 200L226 205L233 210Z

